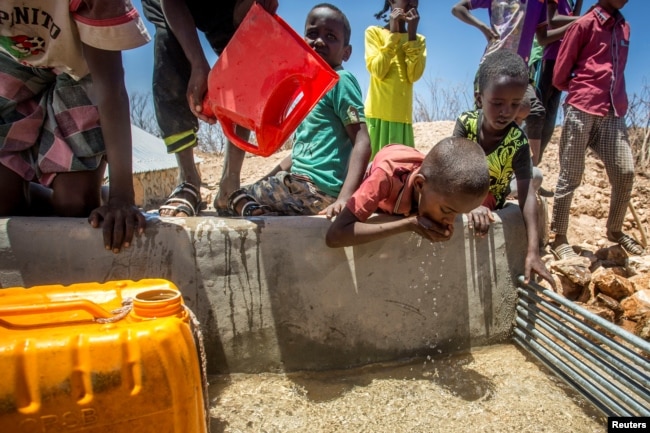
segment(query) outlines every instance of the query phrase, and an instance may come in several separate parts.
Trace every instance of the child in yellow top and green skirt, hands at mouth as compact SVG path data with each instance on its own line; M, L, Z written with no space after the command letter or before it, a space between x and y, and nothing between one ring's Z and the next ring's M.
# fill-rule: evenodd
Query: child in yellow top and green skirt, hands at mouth
M371 158L388 144L415 146L413 83L424 73L426 63L425 39L417 33L417 7L418 0L386 0L376 17L390 10L388 24L366 29L370 86L365 109Z

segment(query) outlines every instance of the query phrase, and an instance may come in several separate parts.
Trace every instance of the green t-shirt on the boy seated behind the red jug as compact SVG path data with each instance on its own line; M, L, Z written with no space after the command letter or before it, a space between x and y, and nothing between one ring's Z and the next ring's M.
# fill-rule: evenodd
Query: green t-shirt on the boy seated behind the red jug
M291 172L338 197L348 172L354 143L346 126L365 122L361 87L350 72L339 69L339 81L318 101L296 130Z

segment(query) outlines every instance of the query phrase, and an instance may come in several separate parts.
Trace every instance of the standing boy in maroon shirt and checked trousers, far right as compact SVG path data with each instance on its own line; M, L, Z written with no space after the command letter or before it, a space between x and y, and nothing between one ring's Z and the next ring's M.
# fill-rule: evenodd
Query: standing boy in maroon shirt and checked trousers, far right
M622 232L634 182L634 160L627 137L625 64L630 26L621 15L627 0L599 0L567 31L553 73L553 85L568 92L560 139L560 175L555 189L551 245L557 258L575 256L566 236L575 189L591 148L605 164L612 194L607 239L629 254L643 248Z

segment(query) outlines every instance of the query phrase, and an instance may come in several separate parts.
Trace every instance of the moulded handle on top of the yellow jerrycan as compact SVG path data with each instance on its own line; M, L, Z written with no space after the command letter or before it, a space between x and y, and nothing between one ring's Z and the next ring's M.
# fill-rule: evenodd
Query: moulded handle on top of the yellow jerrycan
M110 319L114 315L95 304L94 302L86 299L80 299L69 302L50 302L43 304L29 304L29 305L5 305L0 306L0 324L6 324L10 328L31 328L38 326L46 326L46 323L38 322L30 325L14 325L4 320L6 317L15 316L28 316L33 314L51 314L62 313L70 311L85 311L92 316L92 319Z

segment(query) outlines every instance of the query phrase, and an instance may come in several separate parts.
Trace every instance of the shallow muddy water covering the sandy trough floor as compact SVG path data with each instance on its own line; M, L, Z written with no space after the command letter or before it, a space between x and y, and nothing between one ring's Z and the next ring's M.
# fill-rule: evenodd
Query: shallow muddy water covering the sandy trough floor
M211 378L211 432L605 432L512 345L346 371Z

